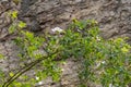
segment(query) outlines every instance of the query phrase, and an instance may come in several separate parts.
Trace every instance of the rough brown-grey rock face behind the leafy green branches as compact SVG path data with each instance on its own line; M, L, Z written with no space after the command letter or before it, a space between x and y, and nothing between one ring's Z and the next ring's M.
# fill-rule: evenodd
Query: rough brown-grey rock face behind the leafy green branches
M11 21L8 17L8 11L10 10L19 10L19 20L26 22L27 29L34 33L43 34L43 32L57 26L67 28L73 18L94 18L99 23L104 38L128 36L129 42L131 44L131 0L22 0L17 5L13 3L12 0L1 0L0 39L9 35L8 27ZM11 37L12 36L9 35L8 40L0 42L0 53L7 55L7 59L10 58L9 60L15 58L13 55L16 50L13 49L13 45L10 42ZM17 60L1 60L0 66L2 65L3 71L9 71L9 66L4 65L5 62L17 62ZM67 64L69 63L71 64L63 67L72 71L72 65L75 62L68 60ZM70 78L66 78L67 76ZM63 75L61 78L61 80L66 79L64 83L62 83L62 87L76 87L76 75L74 76L73 73L69 72L67 76ZM70 82L70 79L72 79L72 82ZM56 87L60 87L60 85Z

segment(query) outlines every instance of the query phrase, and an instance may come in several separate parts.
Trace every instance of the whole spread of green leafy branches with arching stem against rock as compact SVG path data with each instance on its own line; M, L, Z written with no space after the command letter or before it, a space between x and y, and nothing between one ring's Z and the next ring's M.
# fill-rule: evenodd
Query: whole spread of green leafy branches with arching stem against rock
M103 39L94 20L73 20L71 26L62 33L58 30L55 35L36 36L22 29L26 24L16 21L16 12L12 13L13 24L9 32L17 34L14 39L14 44L21 48L17 55L31 63L17 73L11 72L11 78L7 79L3 87L31 87L48 76L59 82L61 70L58 65L68 58L82 63L79 72L82 87L86 87L88 82L103 87L126 87L131 82L131 46L122 38ZM43 69L38 70L37 64ZM32 67L37 78L28 79L23 73ZM27 82L20 83L17 78Z

